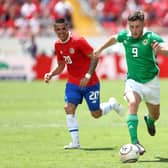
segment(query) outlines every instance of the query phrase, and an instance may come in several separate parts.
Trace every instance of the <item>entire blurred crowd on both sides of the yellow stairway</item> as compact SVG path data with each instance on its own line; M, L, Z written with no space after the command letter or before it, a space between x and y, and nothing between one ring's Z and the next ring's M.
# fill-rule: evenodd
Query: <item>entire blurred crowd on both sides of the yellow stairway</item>
M85 0L102 26L126 26L134 9L147 13L147 25L168 27L168 0ZM56 18L73 24L73 7L68 0L0 0L0 37L52 35Z

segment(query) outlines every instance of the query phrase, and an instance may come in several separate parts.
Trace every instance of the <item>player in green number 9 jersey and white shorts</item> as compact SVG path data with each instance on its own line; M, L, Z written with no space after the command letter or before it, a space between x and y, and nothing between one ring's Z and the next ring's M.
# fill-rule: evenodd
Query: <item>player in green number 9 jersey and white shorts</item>
M155 121L160 115L160 84L158 80L159 67L156 54L168 55L168 47L156 33L144 26L143 11L135 11L128 16L128 30L122 30L112 35L96 51L98 56L105 48L120 42L125 48L127 62L127 80L124 98L128 102L127 125L132 144L136 144L141 155L145 148L140 144L137 135L138 108L141 101L146 103L148 114L144 116L148 133L156 133Z

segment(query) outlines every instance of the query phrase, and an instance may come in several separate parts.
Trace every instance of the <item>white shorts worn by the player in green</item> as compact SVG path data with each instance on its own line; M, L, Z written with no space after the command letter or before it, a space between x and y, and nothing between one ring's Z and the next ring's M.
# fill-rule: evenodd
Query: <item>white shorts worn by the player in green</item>
M135 91L139 94L141 100L147 103L160 104L160 82L158 77L144 84L128 79L125 83L124 95L129 91Z

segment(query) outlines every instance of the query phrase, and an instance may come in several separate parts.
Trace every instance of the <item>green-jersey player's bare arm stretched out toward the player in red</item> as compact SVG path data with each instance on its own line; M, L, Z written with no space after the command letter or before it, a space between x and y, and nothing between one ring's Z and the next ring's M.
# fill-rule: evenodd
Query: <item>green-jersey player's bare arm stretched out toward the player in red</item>
M111 45L114 45L115 43L117 43L117 37L111 36L104 44L102 44L97 50L95 50L95 55L99 56L104 49L110 47Z

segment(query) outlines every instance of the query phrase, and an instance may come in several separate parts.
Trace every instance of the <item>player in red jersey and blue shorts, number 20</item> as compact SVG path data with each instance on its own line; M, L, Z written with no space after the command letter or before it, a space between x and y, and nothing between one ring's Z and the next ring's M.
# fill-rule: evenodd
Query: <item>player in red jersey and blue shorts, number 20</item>
M94 118L99 118L111 110L122 115L123 107L113 97L108 102L100 104L100 84L95 72L98 58L95 57L93 48L86 39L72 34L64 18L55 21L54 31L58 37L55 43L58 65L45 74L44 80L48 83L67 66L68 81L65 88L64 109L72 142L64 146L64 149L78 149L80 143L75 111L83 98Z

